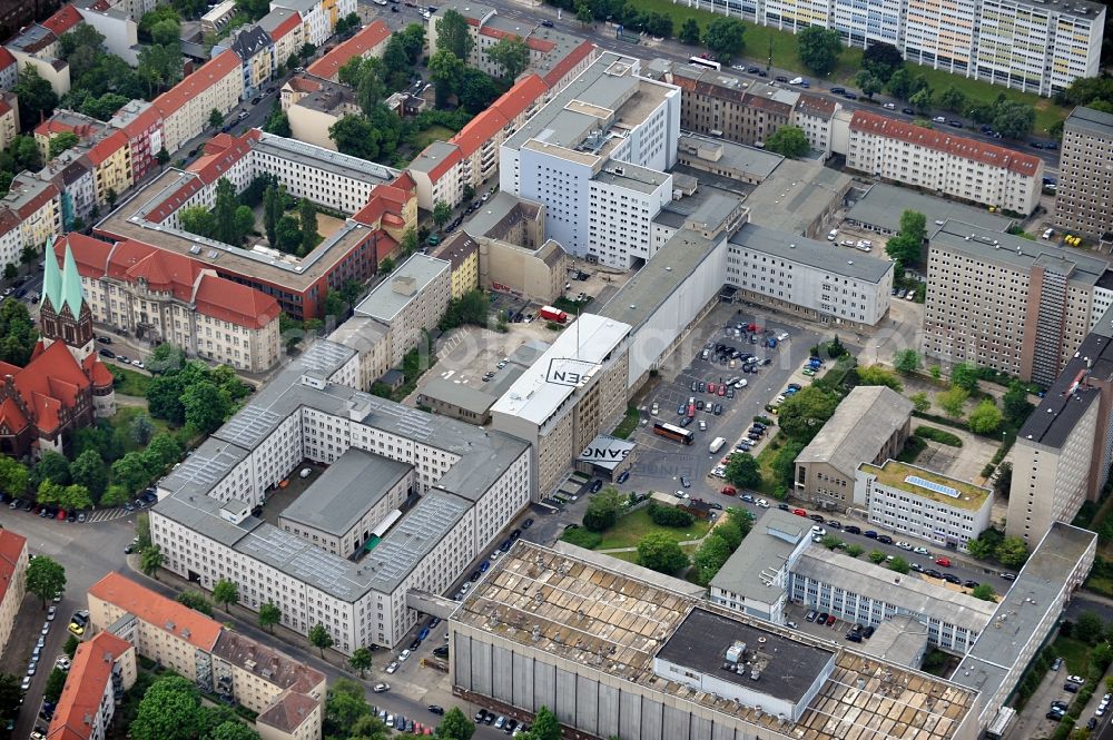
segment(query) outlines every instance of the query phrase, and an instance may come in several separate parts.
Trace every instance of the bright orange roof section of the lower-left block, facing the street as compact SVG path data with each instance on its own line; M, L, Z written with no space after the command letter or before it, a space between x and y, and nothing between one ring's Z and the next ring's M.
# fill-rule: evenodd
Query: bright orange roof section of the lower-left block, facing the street
M213 652L220 623L200 612L146 589L119 573L92 584L89 595L122 609L152 628L169 632L195 648Z

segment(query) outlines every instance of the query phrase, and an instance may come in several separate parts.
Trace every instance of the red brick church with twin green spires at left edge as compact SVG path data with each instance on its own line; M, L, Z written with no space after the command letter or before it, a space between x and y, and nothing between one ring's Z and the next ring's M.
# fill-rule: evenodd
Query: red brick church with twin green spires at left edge
M61 269L52 245L46 255L40 339L26 367L0 362L0 453L16 457L62 452L70 432L116 413L73 255L67 247Z

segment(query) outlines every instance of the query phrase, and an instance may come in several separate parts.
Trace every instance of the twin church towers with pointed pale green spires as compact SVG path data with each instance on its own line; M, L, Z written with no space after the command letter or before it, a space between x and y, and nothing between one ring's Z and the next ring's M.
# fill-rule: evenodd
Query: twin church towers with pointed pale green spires
M62 342L75 359L83 363L95 352L92 312L81 290L81 275L77 272L73 253L67 241L60 272L53 239L47 244L45 257L42 299L39 302L42 346Z

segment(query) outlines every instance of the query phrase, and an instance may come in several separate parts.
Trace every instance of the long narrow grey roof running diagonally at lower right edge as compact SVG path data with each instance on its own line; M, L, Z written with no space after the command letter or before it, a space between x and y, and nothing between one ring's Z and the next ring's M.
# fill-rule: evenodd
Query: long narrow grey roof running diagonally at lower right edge
M1053 523L996 604L993 628L978 635L951 681L985 697L995 694L1021 654L1021 645L1032 639L1047 612L1062 612L1075 568L1095 545L1096 537L1093 532ZM996 711L996 707L991 704L988 711Z

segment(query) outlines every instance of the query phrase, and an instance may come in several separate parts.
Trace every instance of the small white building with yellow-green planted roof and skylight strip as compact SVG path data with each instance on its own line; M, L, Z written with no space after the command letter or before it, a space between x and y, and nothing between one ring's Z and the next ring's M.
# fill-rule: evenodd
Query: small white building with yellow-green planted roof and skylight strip
M868 512L871 524L966 552L967 543L989 529L993 491L886 460L858 465L854 504Z

